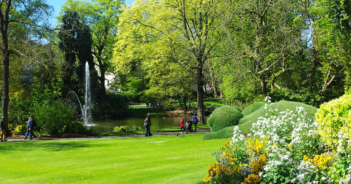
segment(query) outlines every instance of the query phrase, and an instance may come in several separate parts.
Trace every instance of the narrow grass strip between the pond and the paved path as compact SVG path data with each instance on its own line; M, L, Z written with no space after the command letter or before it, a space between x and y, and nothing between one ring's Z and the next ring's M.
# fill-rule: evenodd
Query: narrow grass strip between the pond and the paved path
M194 125L193 125L193 128ZM198 124L197 129L203 129L203 128L210 128L207 124ZM133 134L145 134L145 128L141 127L142 130L138 131L122 131L122 132L101 132L98 134L98 136L113 136L113 135L133 135ZM162 132L178 132L180 130L179 127L173 127L173 128L163 128L163 129L152 129L151 126L151 133L162 133Z

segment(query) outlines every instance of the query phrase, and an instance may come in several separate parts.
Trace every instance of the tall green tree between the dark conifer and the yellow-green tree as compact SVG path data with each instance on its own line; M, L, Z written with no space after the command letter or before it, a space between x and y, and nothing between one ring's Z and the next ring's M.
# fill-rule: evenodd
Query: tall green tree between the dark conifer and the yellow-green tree
M62 12L76 12L80 20L90 29L92 54L95 57L94 64L99 68L102 95L106 94L105 75L113 71L112 50L122 4L124 4L123 0L93 0L92 2L67 0L62 6Z

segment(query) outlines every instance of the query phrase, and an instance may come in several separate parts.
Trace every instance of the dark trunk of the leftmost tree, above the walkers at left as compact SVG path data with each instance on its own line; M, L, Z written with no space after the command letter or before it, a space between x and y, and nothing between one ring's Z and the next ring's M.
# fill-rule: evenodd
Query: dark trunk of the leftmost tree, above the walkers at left
M4 65L4 74L2 79L2 104L1 104L1 116L5 117L5 126L8 124L8 78L9 78L9 56L10 53L8 48L4 49L2 57L2 64Z

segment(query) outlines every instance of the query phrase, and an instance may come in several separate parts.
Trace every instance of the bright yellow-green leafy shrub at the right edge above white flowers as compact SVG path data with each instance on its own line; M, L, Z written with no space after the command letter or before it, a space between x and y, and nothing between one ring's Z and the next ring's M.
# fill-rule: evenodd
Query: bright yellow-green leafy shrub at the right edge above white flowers
M320 105L316 113L318 134L334 149L344 149L351 142L351 90ZM340 141L339 141L340 140ZM342 144L339 145L338 141Z

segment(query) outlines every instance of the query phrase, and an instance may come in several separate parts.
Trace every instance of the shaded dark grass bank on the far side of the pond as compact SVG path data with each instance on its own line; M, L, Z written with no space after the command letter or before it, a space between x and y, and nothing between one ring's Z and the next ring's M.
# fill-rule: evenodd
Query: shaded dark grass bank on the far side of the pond
M127 117L145 117L147 113L152 116L167 116L157 107L128 107L127 109Z

